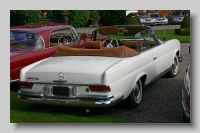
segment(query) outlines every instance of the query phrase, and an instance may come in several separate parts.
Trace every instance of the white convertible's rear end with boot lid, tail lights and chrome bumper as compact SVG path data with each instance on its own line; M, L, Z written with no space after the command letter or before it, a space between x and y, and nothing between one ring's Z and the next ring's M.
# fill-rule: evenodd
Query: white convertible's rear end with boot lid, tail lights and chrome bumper
M120 58L52 57L21 70L18 99L70 106L107 107L123 99L102 84L102 75Z

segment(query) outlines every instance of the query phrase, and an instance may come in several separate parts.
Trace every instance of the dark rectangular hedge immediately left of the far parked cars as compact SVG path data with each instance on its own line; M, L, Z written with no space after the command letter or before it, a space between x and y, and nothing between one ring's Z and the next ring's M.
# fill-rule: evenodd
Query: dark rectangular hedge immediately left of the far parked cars
M124 25L126 10L103 10L100 12L101 24L104 26Z

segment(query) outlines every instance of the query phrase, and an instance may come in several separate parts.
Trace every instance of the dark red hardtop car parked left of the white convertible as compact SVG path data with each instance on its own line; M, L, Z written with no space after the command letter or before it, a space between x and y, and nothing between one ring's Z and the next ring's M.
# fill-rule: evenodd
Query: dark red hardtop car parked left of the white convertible
M19 80L20 70L53 55L58 45L83 48L90 41L73 26L66 24L31 24L10 28L10 83ZM101 41L107 39L102 36Z

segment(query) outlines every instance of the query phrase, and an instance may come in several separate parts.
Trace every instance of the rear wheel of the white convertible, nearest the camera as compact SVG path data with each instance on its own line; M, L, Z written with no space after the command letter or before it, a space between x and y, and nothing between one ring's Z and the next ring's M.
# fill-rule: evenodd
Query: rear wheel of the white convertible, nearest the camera
M137 108L142 100L142 83L139 79L135 85L133 86L133 89L127 99L125 100L126 105L128 108Z

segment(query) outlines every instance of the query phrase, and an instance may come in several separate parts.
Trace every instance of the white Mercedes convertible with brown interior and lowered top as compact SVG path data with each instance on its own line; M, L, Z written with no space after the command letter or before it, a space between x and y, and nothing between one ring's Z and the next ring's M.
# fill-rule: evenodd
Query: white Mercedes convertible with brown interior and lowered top
M23 68L18 99L85 107L126 100L127 107L138 107L143 88L164 74L177 75L180 42L161 41L141 25L129 27L131 39L96 38L118 32L115 26L96 29L85 48L59 46L52 57Z

